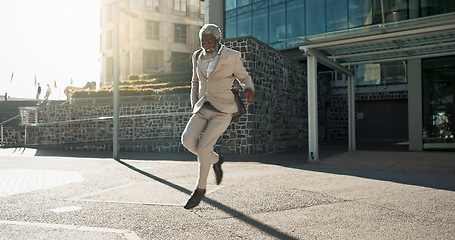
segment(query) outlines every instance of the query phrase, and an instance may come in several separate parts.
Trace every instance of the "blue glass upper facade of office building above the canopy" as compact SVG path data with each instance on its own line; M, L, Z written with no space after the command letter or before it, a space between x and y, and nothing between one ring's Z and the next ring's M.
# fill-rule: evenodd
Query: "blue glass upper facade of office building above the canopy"
M297 46L284 39L450 12L453 0L226 0L225 37L283 50Z

